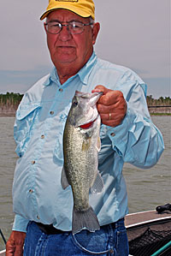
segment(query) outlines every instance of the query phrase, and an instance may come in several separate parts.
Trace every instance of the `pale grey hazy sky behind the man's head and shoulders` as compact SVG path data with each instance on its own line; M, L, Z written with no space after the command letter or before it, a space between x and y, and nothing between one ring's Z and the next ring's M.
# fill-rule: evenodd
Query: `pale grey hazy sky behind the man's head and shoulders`
M170 0L95 0L97 56L133 69L153 98L170 97ZM24 93L52 63L39 17L48 0L2 1L0 93ZM107 85L106 85L107 86Z

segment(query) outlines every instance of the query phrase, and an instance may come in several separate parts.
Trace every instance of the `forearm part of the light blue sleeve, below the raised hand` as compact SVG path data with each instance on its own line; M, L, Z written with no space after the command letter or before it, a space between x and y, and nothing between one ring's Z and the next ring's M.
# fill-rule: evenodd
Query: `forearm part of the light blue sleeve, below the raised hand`
M127 115L121 125L108 128L115 152L124 162L139 168L150 168L160 158L164 145L162 134L150 121L127 103Z

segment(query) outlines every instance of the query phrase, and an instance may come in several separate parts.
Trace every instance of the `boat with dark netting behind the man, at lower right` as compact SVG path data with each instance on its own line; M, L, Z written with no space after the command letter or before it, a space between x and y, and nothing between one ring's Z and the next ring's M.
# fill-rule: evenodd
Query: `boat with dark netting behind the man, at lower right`
M157 206L158 211L127 214L129 256L171 255L171 205L167 205ZM0 256L5 256L5 250L0 252Z

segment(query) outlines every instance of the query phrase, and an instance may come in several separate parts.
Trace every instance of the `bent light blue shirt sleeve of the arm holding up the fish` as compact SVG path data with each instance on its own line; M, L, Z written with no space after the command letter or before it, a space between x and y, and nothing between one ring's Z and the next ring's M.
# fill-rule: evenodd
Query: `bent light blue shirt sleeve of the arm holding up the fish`
M113 149L124 162L143 169L150 168L164 150L162 134L150 119L145 98L146 85L130 80L124 86L122 92L127 100L127 115L121 125L108 127L108 135Z

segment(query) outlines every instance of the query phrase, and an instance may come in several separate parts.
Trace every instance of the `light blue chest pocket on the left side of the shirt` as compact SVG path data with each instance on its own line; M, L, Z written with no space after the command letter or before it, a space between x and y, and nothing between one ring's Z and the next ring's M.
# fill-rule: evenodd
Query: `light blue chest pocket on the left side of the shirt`
M27 104L16 111L14 137L16 142L15 152L21 158L27 150L28 142L38 119L40 104Z

